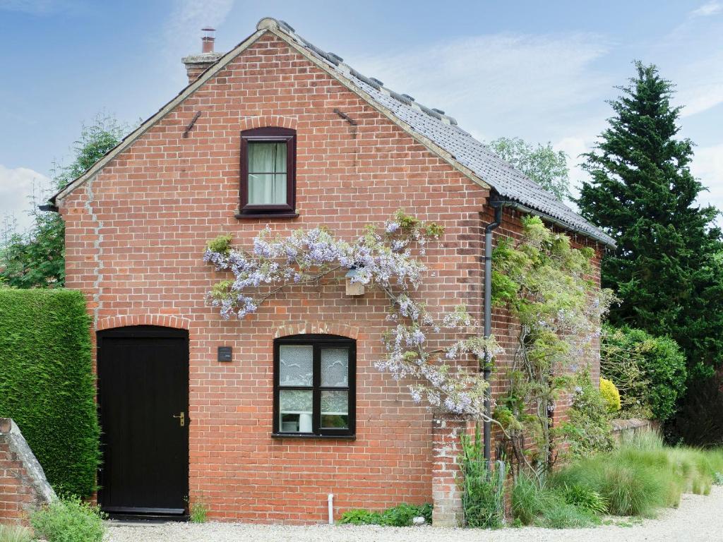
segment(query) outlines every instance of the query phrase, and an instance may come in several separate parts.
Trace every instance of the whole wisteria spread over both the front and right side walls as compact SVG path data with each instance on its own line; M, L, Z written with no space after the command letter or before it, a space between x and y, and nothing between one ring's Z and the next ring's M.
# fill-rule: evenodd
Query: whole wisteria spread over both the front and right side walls
M495 337L482 337L466 306L442 313L420 298L428 272L422 258L442 234L440 225L398 211L353 241L325 228L286 237L265 228L246 250L234 247L231 236L219 236L208 243L204 261L234 278L215 284L209 298L224 318L244 318L286 288L320 285L355 270L352 282L381 291L389 301L385 355L377 368L397 380L411 379L417 403L492 421L513 436L529 425L521 410L509 400L497 416L484 409L488 384L479 369L493 366L502 353ZM568 236L550 231L539 218L523 220L523 236L497 247L495 300L513 311L523 330L513 378L525 382L526 392L514 390L526 404L536 403L536 418L547 418L563 385L555 367L581 363L612 299L589 278L592 255L591 249L574 249ZM471 360L476 369L469 370ZM547 431L542 420L534 425Z

